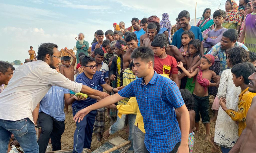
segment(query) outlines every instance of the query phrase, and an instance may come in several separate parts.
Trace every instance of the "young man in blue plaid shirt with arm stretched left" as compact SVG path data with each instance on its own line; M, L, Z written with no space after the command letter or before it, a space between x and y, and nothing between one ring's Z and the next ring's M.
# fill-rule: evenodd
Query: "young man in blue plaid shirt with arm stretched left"
M145 127L145 152L188 153L189 112L172 80L154 71L154 53L148 47L136 48L131 58L138 78L117 94L80 110L75 120L82 120L91 110L136 97ZM181 114L181 131L174 108Z

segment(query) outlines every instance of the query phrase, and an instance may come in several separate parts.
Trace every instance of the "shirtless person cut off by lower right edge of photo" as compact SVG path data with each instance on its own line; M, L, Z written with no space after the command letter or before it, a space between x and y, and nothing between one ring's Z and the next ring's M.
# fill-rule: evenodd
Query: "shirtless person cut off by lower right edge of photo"
M249 91L256 93L256 68L255 72L248 78ZM252 104L247 112L246 128L238 138L236 144L232 147L229 153L254 153L256 150L256 97L252 99Z

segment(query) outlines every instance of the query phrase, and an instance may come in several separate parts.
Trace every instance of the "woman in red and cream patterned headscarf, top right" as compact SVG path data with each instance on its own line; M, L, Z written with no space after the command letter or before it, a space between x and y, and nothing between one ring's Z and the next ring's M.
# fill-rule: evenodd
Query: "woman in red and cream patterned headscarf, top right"
M227 29L236 29L238 32L240 31L242 24L242 14L238 11L238 5L234 0L227 0L226 5L226 18L222 23L222 27Z

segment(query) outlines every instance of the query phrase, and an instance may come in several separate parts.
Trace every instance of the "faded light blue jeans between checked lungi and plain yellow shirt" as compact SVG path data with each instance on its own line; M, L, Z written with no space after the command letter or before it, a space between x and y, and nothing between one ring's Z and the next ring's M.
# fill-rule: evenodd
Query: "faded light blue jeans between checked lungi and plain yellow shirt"
M128 124L129 124L129 137L128 140L131 141L131 147L129 150L133 150L133 129L134 129L134 123L136 119L136 115L134 114L128 114ZM124 121L125 121L126 115L122 115L121 118L118 116L116 117L116 122L110 126L109 134L114 134L115 132L122 130L124 128Z

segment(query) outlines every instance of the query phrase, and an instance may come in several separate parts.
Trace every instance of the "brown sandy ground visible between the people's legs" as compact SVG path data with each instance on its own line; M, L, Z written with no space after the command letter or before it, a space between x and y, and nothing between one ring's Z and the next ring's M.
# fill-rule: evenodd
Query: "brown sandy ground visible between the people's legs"
M212 106L213 103L213 98L210 98L210 108ZM213 112L210 110L210 117L213 115ZM62 138L61 138L61 149L65 150L65 149L72 149L73 148L73 134L74 131L76 129L76 123L72 120L73 116L72 116L72 109L71 106L69 106L69 113L66 116L66 120L65 120L65 131L62 134ZM109 122L110 119L108 117L106 117L105 119L105 130L107 130L109 128ZM194 145L194 153L208 153L211 152L211 144L207 141L204 141L204 137L205 137L205 127L204 125L201 123L201 121L199 122L200 124L200 131L201 133L199 134L199 137L196 138L196 142ZM211 135L214 136L214 127L215 127L215 122L212 122L211 125ZM103 133L102 133L103 134ZM117 133L115 133L114 135L110 135L109 139L111 139L114 136L120 136L124 139L127 140L128 138L128 134L125 132L125 130L121 130ZM92 136L92 144L91 144L91 150L95 150L98 147L100 147L101 145L103 145L105 143L105 141L102 141L100 143L97 143L97 138L96 135L93 134ZM48 151L48 150L47 150ZM50 151L50 150L49 150Z

